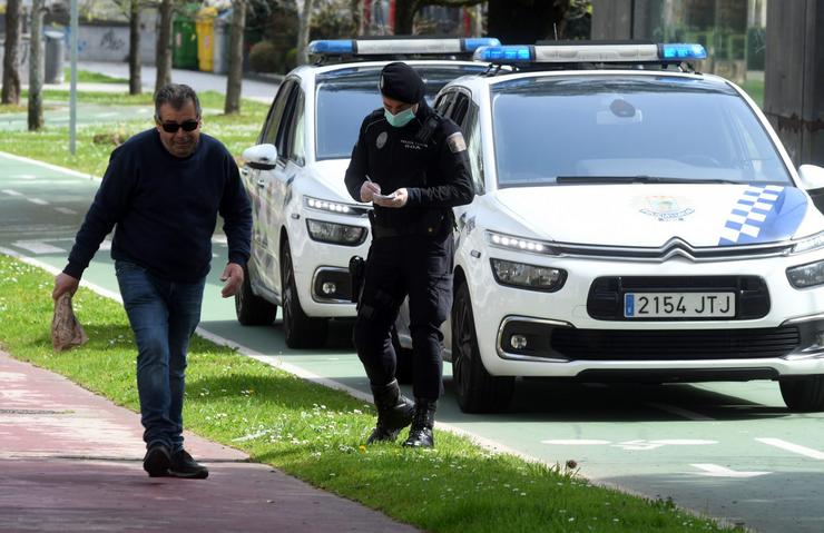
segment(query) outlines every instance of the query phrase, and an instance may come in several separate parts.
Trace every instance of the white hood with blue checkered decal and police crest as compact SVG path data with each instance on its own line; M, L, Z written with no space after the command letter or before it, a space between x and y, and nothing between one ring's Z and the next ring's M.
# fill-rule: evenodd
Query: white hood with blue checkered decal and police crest
M508 188L491 196L521 227L497 228L490 220L490 229L526 230L559 243L657 247L678 237L696 247L735 246L822 229L821 214L795 187L565 185Z

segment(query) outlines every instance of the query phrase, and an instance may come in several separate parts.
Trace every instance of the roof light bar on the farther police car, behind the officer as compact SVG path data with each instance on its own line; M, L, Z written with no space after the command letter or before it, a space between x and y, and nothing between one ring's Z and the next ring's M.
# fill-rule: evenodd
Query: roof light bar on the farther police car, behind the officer
M496 38L473 39L336 39L308 45L308 52L322 56L380 56L393 53L472 53L481 47L497 47Z

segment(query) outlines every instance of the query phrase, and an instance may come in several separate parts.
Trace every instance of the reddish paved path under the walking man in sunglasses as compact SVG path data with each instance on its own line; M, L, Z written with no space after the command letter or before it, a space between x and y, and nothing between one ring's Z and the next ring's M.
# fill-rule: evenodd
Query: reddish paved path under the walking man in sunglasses
M208 480L150 478L140 435L137 414L0 352L0 531L415 531L190 433Z

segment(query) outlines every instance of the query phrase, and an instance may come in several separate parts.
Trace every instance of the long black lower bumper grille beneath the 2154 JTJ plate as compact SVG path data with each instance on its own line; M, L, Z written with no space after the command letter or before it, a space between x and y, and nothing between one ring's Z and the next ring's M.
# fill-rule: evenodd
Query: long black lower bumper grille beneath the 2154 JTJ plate
M694 361L781 357L796 349L795 326L759 329L552 332L552 351L573 361Z

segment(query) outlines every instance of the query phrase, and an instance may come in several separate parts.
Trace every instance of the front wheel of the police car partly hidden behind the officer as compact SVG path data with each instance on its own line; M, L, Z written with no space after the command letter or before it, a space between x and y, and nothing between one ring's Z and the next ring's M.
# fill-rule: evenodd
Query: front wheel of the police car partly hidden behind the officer
M283 334L290 348L317 348L326 344L328 320L310 318L301 307L295 286L295 270L288 243L281 250L281 307L283 307Z

